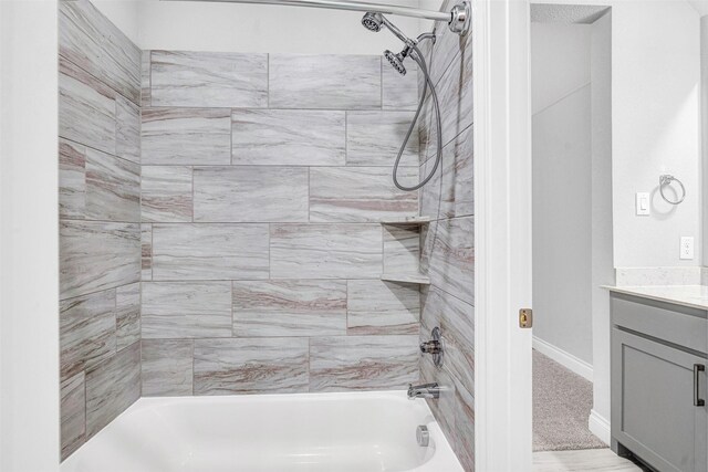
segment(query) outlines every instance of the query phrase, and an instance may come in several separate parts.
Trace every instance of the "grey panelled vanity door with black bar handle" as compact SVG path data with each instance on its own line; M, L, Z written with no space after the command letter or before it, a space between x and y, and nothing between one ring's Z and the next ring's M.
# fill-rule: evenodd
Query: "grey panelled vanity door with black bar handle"
M706 358L613 327L613 437L662 472L707 472L708 409L694 405ZM706 373L699 397L706 398Z

